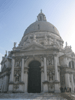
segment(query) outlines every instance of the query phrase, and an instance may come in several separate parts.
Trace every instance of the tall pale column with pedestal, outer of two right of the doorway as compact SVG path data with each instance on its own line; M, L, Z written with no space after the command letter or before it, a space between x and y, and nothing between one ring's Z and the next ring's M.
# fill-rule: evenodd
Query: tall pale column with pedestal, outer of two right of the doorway
M59 84L59 77L58 77L58 66L57 66L57 55L54 56L54 67L55 67L55 93L60 92L60 84Z

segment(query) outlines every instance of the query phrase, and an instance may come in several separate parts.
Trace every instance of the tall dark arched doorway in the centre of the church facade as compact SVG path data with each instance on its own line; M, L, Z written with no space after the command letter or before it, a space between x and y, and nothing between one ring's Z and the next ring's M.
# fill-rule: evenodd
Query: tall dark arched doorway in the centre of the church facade
M41 70L40 62L32 61L29 64L28 73L28 93L40 93L41 92Z

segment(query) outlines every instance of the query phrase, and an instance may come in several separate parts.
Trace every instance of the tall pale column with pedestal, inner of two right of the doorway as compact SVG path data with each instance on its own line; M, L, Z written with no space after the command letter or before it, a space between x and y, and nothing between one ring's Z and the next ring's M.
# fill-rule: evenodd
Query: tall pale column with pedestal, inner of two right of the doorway
M46 57L44 57L44 92L48 92L48 80L47 80L47 66L46 66Z

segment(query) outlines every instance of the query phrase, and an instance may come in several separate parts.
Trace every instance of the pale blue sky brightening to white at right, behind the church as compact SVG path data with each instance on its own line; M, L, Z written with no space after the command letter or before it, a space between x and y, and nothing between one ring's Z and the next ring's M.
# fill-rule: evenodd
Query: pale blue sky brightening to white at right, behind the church
M40 10L75 52L75 0L0 0L0 62L14 42L21 41L26 28Z

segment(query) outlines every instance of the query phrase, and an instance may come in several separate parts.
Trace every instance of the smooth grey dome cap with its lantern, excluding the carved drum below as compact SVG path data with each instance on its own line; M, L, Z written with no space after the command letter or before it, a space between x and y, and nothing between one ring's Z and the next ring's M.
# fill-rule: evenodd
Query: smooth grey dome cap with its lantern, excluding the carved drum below
M37 16L37 21L32 23L25 31L24 35L32 32L51 32L59 35L57 28L51 23L46 21L45 15L41 12Z

